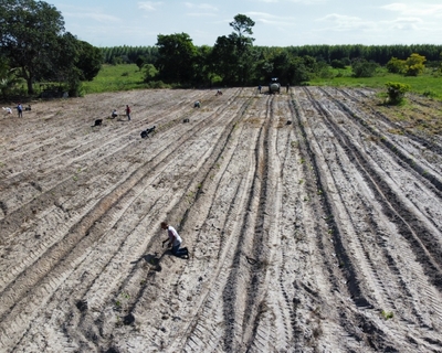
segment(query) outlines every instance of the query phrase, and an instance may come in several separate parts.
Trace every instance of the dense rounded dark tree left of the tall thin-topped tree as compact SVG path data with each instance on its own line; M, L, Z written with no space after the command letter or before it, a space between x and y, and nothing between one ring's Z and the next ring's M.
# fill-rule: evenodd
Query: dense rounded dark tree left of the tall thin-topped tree
M191 83L194 77L197 47L187 33L158 34L158 61L160 78L167 83Z

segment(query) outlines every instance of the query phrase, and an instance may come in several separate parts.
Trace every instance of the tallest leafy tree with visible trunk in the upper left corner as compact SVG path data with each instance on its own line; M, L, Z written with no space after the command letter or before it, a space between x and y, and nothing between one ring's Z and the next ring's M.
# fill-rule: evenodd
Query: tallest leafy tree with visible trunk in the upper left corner
M35 76L46 71L63 31L64 21L55 7L43 1L2 0L0 49L11 67L19 67L29 94L33 94Z

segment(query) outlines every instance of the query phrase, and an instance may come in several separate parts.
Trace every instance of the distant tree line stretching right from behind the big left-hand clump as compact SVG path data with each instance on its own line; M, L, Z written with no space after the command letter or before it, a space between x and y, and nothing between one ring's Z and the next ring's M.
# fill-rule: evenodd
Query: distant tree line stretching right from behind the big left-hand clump
M257 85L278 77L285 84L299 85L312 77L327 77L330 66L351 66L356 77L375 75L379 66L399 73L391 60L404 63L419 57L419 69L401 73L418 75L427 66L441 68L442 45L303 45L254 46L254 21L238 14L232 33L217 39L213 46L196 46L187 33L159 34L155 46L104 47L105 63L135 63L146 82L180 86ZM397 63L396 63L397 64Z

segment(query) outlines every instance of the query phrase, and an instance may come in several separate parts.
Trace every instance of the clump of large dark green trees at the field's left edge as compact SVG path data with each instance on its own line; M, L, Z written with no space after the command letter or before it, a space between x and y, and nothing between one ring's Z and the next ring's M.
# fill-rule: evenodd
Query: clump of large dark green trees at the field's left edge
M57 90L77 95L93 79L101 50L64 31L55 7L44 1L2 0L0 6L0 81L3 97L33 95L34 84L59 83ZM18 88L18 79L25 87Z

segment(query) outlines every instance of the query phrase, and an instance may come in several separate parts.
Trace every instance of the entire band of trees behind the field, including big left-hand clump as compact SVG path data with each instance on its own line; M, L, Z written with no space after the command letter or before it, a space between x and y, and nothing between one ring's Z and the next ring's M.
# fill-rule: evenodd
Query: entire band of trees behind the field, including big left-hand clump
M441 65L442 45L255 46L251 18L236 14L229 25L232 32L218 36L213 46L197 46L189 34L173 33L158 34L152 46L98 49L65 32L55 7L44 1L2 0L0 89L4 96L18 79L24 79L30 95L41 82L59 83L60 89L77 95L81 83L92 81L103 63L135 63L146 83L180 87L248 86L272 77L299 85L314 76L327 77L330 66L351 66L359 77L373 75L379 65L391 72L420 74L423 66L407 66L417 57L419 65Z

